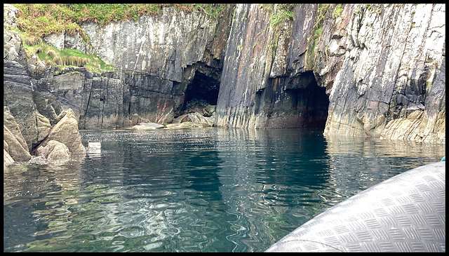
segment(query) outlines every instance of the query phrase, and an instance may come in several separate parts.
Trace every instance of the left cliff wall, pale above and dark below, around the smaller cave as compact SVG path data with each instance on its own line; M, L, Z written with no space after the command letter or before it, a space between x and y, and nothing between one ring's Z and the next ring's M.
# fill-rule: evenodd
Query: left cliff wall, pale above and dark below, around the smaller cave
M154 123L170 123L185 105L187 86L197 74L219 84L233 8L228 5L219 19L167 6L160 15L138 22L86 22L81 27L91 44L82 47L74 43L74 36L46 36L44 41L57 48L95 53L116 72L47 67L34 76L35 83L74 110L80 129L135 125L136 114Z

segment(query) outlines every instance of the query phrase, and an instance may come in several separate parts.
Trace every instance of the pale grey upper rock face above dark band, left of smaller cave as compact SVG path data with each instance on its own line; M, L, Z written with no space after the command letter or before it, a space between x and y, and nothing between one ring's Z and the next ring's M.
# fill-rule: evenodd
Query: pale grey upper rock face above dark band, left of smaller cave
M161 15L141 17L137 23L129 20L99 26L87 22L81 27L100 58L116 69L182 82L182 69L203 61L217 20L202 12L176 11L175 7L161 11Z

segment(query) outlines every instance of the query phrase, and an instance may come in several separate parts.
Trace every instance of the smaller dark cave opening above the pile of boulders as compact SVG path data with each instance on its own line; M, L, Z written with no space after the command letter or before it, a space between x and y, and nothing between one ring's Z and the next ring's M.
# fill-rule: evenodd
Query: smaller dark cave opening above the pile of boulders
M192 83L187 86L182 110L186 110L192 104L217 105L220 81L196 71Z

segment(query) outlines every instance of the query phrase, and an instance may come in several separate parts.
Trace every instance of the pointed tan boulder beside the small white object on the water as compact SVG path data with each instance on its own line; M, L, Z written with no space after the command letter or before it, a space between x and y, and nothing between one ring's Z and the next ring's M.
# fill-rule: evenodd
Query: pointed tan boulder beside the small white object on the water
M78 122L72 109L67 110L67 114L51 128L50 133L43 140L40 147L46 147L46 144L51 140L65 144L72 155L86 154L86 148L81 144Z

